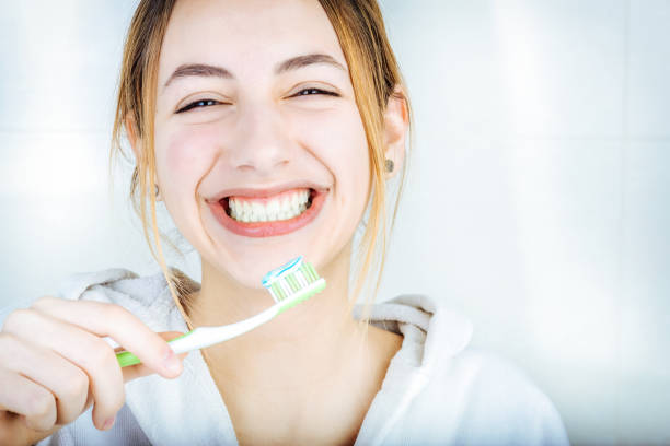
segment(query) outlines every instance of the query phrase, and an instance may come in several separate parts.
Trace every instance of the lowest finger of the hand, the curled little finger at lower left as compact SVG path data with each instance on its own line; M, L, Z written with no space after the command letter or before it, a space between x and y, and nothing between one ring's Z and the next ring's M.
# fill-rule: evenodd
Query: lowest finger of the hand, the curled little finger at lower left
M25 416L25 424L35 431L48 431L56 423L54 395L41 385L15 372L0 368L0 406Z

